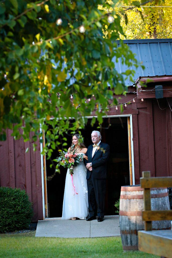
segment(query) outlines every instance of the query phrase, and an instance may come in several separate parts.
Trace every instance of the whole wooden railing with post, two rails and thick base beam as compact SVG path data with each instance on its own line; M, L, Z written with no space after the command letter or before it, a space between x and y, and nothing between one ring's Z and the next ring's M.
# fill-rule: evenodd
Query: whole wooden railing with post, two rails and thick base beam
M140 182L141 187L144 188L145 230L138 231L138 249L146 253L172 258L172 230L152 230L152 221L171 220L172 210L151 211L150 193L150 188L171 187L172 177L150 178L150 171L144 171Z

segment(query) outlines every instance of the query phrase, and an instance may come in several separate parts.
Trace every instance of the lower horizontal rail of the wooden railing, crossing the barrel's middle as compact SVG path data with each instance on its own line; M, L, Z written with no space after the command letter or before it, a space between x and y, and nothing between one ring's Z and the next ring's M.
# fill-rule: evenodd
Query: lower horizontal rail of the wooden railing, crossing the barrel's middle
M143 220L144 221L172 220L172 210L168 210L168 211L143 211ZM171 231L171 235L172 235L172 231Z

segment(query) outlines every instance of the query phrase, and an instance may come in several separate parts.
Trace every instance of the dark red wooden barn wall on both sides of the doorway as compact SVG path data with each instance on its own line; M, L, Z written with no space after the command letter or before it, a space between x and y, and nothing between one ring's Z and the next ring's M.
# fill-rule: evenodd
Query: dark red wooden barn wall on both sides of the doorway
M119 103L135 98L135 94L120 96ZM159 103L159 104L158 104ZM111 108L108 115L120 115ZM172 176L172 119L166 99L135 99L125 107L123 114L132 114L135 184L140 183L142 171L150 170L151 176ZM93 114L94 115L94 114ZM17 187L29 195L34 217L43 219L40 143L37 151L32 143L22 139L14 141L7 130L7 140L0 142L0 186ZM29 147L28 153L25 153Z

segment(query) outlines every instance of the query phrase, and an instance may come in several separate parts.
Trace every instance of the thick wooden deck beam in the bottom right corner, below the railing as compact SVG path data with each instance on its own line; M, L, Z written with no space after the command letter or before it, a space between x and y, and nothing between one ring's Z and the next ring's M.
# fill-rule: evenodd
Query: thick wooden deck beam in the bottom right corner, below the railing
M171 230L138 231L138 249L142 252L172 258Z

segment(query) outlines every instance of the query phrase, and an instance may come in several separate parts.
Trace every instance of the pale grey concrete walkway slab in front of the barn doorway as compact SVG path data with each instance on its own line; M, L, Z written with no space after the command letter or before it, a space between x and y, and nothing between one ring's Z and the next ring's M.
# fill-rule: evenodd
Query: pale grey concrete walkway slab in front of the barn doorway
M97 222L97 220L39 220L35 236L63 238L120 236L119 216L105 216L103 222Z

